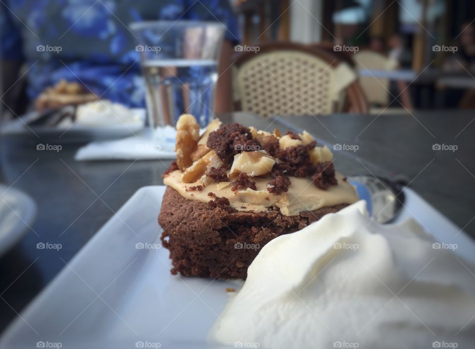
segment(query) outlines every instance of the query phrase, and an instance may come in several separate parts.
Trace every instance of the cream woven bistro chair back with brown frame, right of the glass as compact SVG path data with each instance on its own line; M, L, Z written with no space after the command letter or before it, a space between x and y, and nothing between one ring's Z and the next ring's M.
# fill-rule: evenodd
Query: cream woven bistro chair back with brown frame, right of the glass
M233 60L235 110L264 117L368 112L356 73L321 49L270 42Z

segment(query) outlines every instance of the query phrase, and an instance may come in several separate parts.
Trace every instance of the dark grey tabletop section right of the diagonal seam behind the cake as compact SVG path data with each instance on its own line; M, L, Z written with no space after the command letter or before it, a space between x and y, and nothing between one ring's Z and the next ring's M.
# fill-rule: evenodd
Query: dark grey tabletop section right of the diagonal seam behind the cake
M296 131L308 130L332 149L341 145L348 149L345 155L362 161L375 175L409 183L475 237L474 118L475 112L450 110L412 115L279 117L278 121ZM352 163L344 161L345 174L355 173Z

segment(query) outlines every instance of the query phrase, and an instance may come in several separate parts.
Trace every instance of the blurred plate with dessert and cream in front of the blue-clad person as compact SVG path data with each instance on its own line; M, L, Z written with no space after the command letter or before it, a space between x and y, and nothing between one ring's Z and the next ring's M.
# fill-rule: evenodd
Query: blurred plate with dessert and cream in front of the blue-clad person
M35 110L6 122L2 134L32 135L56 143L89 142L134 135L146 111L100 99L77 82L59 81L34 103Z

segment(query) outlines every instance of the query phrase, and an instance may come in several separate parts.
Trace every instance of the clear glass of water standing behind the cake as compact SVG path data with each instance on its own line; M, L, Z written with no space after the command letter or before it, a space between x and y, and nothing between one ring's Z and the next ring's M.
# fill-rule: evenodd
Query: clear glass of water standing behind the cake
M141 55L149 125L173 125L187 113L205 127L214 116L225 27L214 22L145 21L132 23L130 29Z

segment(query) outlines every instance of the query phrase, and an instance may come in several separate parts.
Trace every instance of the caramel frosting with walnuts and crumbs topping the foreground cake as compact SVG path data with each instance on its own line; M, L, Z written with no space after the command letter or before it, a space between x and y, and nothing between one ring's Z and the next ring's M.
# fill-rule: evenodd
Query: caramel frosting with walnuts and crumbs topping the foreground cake
M278 207L285 216L358 201L334 170L330 149L318 147L305 131L282 135L214 120L198 133L193 116L180 116L177 161L164 176L167 186L189 200L225 197L238 211Z

